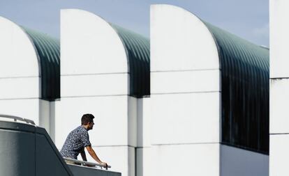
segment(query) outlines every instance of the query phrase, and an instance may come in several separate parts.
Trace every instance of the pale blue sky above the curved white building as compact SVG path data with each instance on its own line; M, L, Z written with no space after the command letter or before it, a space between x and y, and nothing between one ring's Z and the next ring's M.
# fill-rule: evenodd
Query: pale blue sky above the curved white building
M269 46L268 0L0 0L0 15L59 38L61 8L79 8L149 37L149 6L180 6L258 45Z

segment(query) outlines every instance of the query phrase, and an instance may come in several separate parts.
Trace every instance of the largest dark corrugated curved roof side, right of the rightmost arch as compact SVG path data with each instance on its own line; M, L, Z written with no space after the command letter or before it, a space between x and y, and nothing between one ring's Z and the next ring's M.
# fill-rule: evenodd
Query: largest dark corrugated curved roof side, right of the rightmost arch
M221 65L222 143L269 153L269 49L205 22Z

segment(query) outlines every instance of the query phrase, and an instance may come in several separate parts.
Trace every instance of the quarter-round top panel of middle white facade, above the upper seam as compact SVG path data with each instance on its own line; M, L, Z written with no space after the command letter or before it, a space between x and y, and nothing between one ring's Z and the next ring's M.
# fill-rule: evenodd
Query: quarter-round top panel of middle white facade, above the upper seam
M119 35L85 10L61 10L61 74L128 72Z

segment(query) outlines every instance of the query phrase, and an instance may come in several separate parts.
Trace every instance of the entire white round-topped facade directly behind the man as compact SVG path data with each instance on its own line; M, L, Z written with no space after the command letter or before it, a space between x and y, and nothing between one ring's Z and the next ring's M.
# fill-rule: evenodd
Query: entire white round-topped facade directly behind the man
M61 100L55 142L61 149L84 113L95 116L92 147L124 176L135 175L137 99L129 95L126 51L108 22L84 10L61 10ZM88 161L94 161L87 153Z

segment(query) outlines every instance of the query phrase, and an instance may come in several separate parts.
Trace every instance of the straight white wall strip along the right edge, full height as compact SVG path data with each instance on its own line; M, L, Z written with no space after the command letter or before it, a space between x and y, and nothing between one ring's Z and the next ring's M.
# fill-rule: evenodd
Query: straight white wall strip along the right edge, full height
M269 1L270 28L270 161L269 175L289 175L289 1Z

